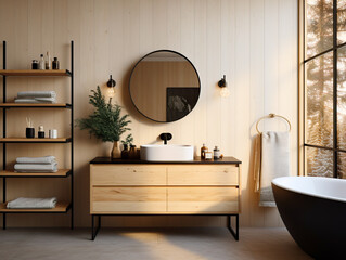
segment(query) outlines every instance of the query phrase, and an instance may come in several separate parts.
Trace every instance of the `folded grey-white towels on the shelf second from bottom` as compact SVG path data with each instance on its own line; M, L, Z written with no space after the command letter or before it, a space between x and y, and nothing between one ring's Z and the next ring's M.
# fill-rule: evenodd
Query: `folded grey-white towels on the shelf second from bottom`
M55 156L18 157L14 165L16 172L56 172Z

